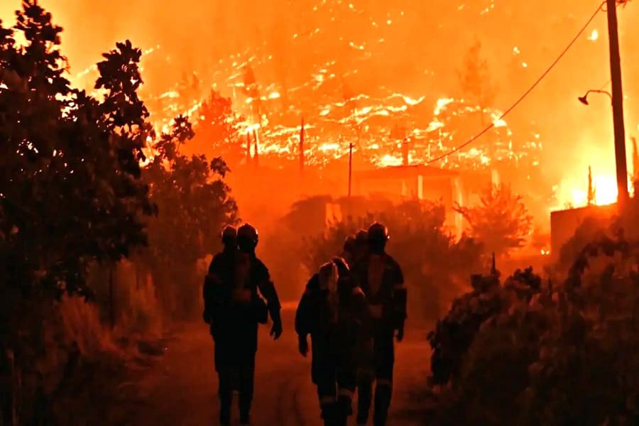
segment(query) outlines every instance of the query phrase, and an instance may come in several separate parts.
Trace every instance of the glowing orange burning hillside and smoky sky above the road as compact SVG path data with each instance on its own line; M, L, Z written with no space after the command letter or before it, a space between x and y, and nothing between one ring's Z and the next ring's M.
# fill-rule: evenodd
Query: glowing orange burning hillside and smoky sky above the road
M8 17L19 7L18 1L8 3L0 6L0 16ZM601 31L605 14L584 33L574 48L577 52L508 116L508 122L494 107L508 106L541 74L596 2L398 0L391 5L280 0L276 3L281 7L257 0L249 2L250 7L242 6L242 0L232 5L221 0L206 3L182 10L170 2L109 2L104 13L112 9L116 15L97 17L101 23L113 22L107 28L92 18L85 21L91 13L82 9L87 6L80 0L43 0L55 21L73 36L62 40L63 50L71 51L72 65L97 62L99 58L89 58L87 52L97 55L111 48L114 38L130 37L145 49L142 96L157 129L168 129L173 117L186 114L197 131L198 121L204 119L202 104L214 89L231 99L239 140L256 133L265 163L282 166L297 160L303 117L307 163L327 165L347 156L354 143L359 158L384 166L403 163L405 150L410 163L430 163L492 123L493 129L468 148L432 165L472 170L508 163L510 170L523 175L539 170L559 182L554 188L557 204L579 206L587 202L584 163L591 164L594 202L616 199L613 168L598 164L601 158L609 162L613 157L612 146L602 157L601 151L589 149L600 144L575 149L558 143L569 140L584 122L590 141L612 140L609 111L604 109L609 106L585 109L576 102L577 95L608 78L607 67L601 65L607 58ZM637 27L628 24L637 8L627 9L620 14L622 58L630 82L624 82L626 116L634 120L633 94L639 93L633 86L633 77L639 76L634 64L639 60L633 55L633 40L639 37L634 34ZM132 23L124 16L143 16L142 12L148 13L144 22ZM482 41L488 63L488 76L476 82L482 92L477 96L459 89L458 75L474 40ZM72 73L71 80L90 88L96 72L89 67ZM487 87L495 94L484 102Z

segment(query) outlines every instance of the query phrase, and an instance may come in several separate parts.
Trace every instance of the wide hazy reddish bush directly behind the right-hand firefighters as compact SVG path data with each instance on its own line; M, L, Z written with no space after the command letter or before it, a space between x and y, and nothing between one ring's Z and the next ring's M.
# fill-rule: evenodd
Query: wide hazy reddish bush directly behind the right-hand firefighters
M383 205L382 210L374 205ZM473 239L455 241L444 227L441 204L412 200L397 205L371 203L368 214L334 221L322 234L304 239L302 262L308 273L332 256L341 253L346 236L366 229L371 222L388 226L388 251L400 263L411 292L408 309L422 319L439 315L454 296L459 295L461 277L481 271L481 246ZM417 315L419 317L420 315Z

